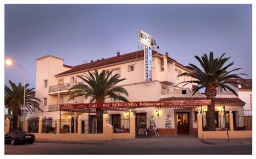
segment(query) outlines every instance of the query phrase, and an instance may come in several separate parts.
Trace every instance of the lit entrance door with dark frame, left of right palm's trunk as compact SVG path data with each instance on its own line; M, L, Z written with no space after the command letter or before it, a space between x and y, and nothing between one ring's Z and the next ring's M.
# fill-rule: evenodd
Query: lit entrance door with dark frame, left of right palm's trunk
M177 113L177 134L189 134L189 113Z

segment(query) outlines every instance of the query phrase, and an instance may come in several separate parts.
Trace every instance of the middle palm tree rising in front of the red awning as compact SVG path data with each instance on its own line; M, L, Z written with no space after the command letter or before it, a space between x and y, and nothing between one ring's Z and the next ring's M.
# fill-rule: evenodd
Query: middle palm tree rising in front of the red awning
M120 75L115 74L111 77L112 71L107 72L102 70L99 74L98 70L95 70L95 76L89 72L89 75L84 75L77 77L81 78L84 84L75 85L70 90L72 91L70 94L70 99L74 99L75 97L83 96L87 99L91 97L90 103L96 101L96 103L105 102L106 98L113 98L114 100L128 101L124 96L118 95L118 93L123 93L128 96L128 92L119 86L115 86L119 82L126 80L125 78L119 79ZM97 116L97 131L98 133L102 133L103 130L103 109L96 109Z

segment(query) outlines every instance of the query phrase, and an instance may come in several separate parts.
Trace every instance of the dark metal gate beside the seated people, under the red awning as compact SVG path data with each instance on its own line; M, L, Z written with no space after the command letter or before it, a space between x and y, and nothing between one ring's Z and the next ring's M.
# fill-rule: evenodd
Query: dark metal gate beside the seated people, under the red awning
M151 138L150 118L136 117L136 138Z

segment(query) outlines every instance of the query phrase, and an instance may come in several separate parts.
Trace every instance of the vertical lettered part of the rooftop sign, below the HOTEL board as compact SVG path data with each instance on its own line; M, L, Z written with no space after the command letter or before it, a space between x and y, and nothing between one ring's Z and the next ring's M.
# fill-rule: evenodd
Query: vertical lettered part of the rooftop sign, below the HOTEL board
M152 81L152 48L145 45L144 49L144 71L145 81Z

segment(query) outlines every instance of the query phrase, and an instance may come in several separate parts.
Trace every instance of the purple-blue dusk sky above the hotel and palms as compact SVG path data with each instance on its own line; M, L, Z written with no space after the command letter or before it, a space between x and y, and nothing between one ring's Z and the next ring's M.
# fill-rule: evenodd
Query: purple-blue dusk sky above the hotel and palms
M199 65L195 55L225 52L232 68L252 77L251 5L5 5L5 58L22 65L35 87L36 58L75 66L137 51L139 30L185 66ZM8 80L23 83L24 73L5 66Z

